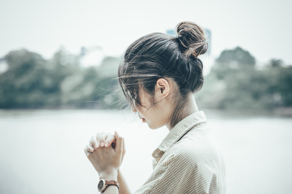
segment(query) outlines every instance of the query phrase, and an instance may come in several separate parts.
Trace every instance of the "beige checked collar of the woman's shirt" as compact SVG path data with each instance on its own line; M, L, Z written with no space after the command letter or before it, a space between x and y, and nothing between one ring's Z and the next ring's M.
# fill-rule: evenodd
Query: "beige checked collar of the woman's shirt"
M161 142L161 144L154 150L152 156L155 159L160 159L173 144L175 144L187 131L194 126L207 122L206 116L203 111L195 112L176 124Z

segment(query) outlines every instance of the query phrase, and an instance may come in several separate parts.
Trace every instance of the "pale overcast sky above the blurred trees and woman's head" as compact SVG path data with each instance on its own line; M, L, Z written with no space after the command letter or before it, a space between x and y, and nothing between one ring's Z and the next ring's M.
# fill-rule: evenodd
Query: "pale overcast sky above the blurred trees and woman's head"
M50 58L61 45L73 54L101 46L118 56L142 35L193 21L212 33L210 57L240 46L265 63L292 64L292 1L9 0L0 2L0 58L26 48Z

